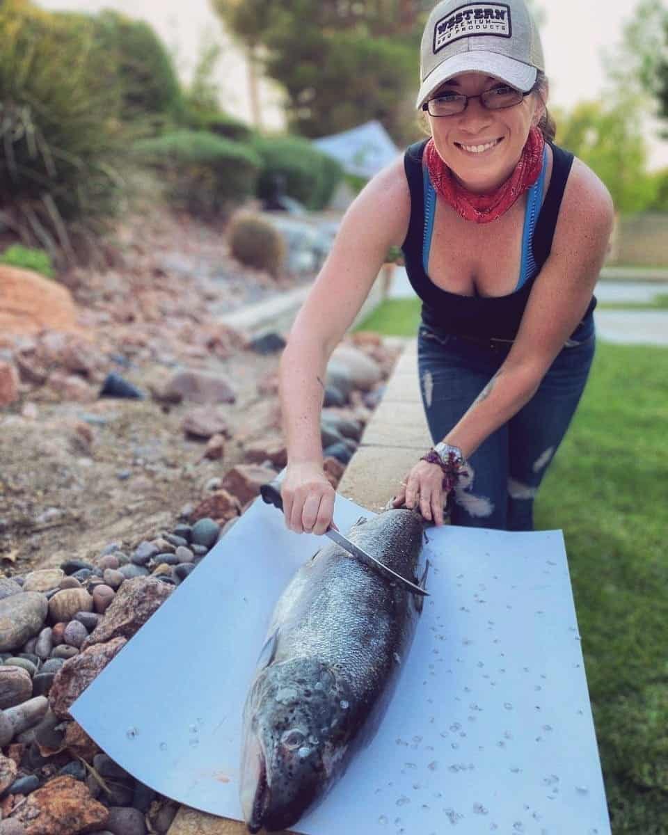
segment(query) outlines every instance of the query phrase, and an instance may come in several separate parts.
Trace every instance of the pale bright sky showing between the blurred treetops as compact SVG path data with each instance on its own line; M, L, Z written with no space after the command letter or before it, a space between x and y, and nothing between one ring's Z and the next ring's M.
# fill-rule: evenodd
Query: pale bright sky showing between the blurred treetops
M665 6L668 0L657 0ZM214 38L225 45L218 64L222 104L249 119L245 70L229 38L210 10L209 0L37 0L48 9L77 9L97 12L114 8L133 18L144 18L170 49L177 50L180 72L187 77L203 43ZM622 28L635 8L635 0L538 0L545 11L541 37L545 68L553 104L569 108L583 99L595 99L605 84L601 53L620 42ZM416 55L416 91L418 86ZM278 101L276 89L267 86L266 99ZM278 125L279 117L266 105L266 127ZM647 126L650 168L668 166L668 141L653 137L654 125Z

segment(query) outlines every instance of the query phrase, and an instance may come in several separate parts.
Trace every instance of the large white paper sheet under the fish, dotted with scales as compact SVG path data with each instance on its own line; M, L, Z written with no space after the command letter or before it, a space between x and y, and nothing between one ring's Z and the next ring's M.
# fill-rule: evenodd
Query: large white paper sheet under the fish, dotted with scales
M346 531L372 513L337 496ZM415 641L377 737L306 835L609 835L559 531L428 531ZM260 499L74 703L110 757L241 819L241 713L271 610L327 540Z

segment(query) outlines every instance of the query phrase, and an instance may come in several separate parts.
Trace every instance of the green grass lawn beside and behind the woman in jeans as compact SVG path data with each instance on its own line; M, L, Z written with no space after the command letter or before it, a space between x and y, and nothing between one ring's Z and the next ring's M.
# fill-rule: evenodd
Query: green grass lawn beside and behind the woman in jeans
M409 336L418 316L391 300L361 328ZM667 427L668 349L600 343L536 503L564 530L615 835L668 833Z

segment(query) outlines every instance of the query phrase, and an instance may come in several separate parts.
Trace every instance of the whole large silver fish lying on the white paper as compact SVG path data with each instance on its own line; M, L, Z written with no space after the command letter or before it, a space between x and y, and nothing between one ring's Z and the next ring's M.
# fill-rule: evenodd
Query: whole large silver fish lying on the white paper
M423 519L386 510L348 538L417 582ZM240 799L250 832L291 827L385 713L423 598L329 544L276 604L244 709Z

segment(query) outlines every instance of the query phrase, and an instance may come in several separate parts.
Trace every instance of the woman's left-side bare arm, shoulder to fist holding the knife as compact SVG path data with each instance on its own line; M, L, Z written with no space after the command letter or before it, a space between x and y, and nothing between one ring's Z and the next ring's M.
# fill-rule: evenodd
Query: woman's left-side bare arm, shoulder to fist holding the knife
M286 524L323 533L334 491L322 471L320 413L327 361L351 326L387 251L401 245L410 217L402 157L376 175L344 215L337 237L291 328L281 357L280 394L288 469Z

